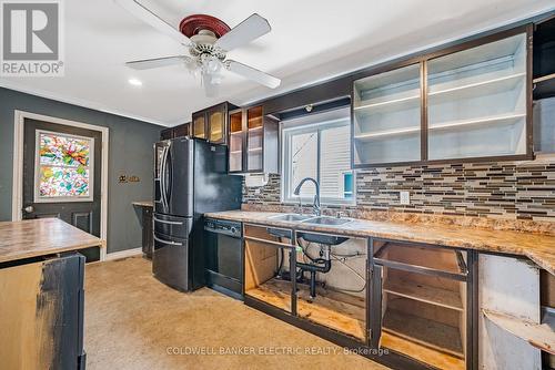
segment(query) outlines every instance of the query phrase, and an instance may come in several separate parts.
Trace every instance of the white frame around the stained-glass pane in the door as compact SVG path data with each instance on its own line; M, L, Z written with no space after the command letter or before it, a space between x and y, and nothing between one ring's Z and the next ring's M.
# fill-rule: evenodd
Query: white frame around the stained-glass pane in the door
M33 203L68 203L68 202L94 202L94 137L80 136L67 134L61 132L36 130L34 136L34 181L33 181ZM71 138L79 138L88 141L90 144L89 150L89 195L88 196L41 196L40 195L40 168L49 165L40 163L40 135L49 134L57 136L65 136ZM50 167L63 167L59 165L51 165ZM71 166L68 166L71 168Z

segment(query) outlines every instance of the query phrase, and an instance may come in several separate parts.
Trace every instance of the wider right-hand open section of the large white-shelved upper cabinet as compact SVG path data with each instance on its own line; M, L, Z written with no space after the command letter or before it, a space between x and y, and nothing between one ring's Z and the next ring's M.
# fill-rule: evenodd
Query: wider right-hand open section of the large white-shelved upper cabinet
M521 33L427 62L430 160L526 154L526 45Z

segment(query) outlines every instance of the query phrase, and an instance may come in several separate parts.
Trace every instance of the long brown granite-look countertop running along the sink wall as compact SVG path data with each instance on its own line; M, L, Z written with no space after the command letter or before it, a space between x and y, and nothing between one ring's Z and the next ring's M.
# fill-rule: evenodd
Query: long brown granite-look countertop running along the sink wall
M553 235L468 228L454 225L418 225L366 219L353 219L353 222L340 226L309 225L269 219L269 217L276 215L280 215L280 213L228 210L208 213L204 216L303 230L327 232L354 237L372 236L455 248L522 255L528 257L552 275L555 275L555 236Z

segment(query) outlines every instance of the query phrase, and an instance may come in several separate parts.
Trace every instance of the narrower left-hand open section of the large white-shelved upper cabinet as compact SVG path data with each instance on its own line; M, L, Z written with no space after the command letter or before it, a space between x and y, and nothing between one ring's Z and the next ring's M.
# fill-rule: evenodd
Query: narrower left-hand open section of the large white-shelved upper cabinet
M421 63L355 81L354 164L421 158Z

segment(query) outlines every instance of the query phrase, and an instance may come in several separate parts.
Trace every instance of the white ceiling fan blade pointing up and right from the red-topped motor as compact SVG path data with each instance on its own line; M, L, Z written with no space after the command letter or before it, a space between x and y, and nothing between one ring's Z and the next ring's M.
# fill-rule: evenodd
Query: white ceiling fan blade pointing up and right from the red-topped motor
M268 20L254 13L218 39L214 44L225 51L230 51L248 44L271 30L272 28Z

